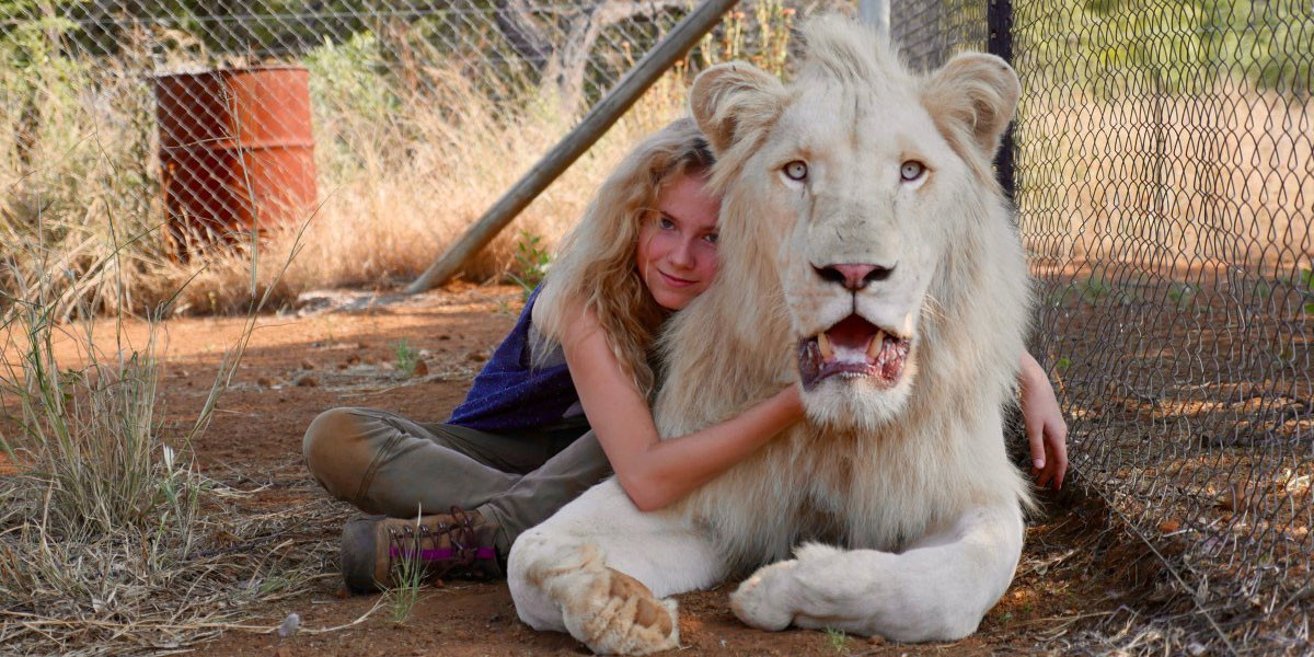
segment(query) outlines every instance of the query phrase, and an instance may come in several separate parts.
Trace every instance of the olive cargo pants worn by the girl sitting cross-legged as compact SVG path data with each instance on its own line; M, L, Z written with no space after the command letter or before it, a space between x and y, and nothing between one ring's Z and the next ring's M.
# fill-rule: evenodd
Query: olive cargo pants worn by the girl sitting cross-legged
M501 531L505 558L524 530L611 474L583 417L555 427L489 434L424 424L394 413L321 413L301 443L306 466L330 494L371 514L414 518L476 510Z

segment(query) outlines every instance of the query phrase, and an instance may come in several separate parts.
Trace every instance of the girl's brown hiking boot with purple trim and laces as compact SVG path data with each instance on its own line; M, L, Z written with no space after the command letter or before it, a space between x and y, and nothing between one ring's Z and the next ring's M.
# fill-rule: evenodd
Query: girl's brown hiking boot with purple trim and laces
M402 583L407 568L419 581L502 577L493 535L497 524L476 511L415 518L361 515L342 528L342 576L351 593L374 593ZM409 561L411 560L411 561Z

